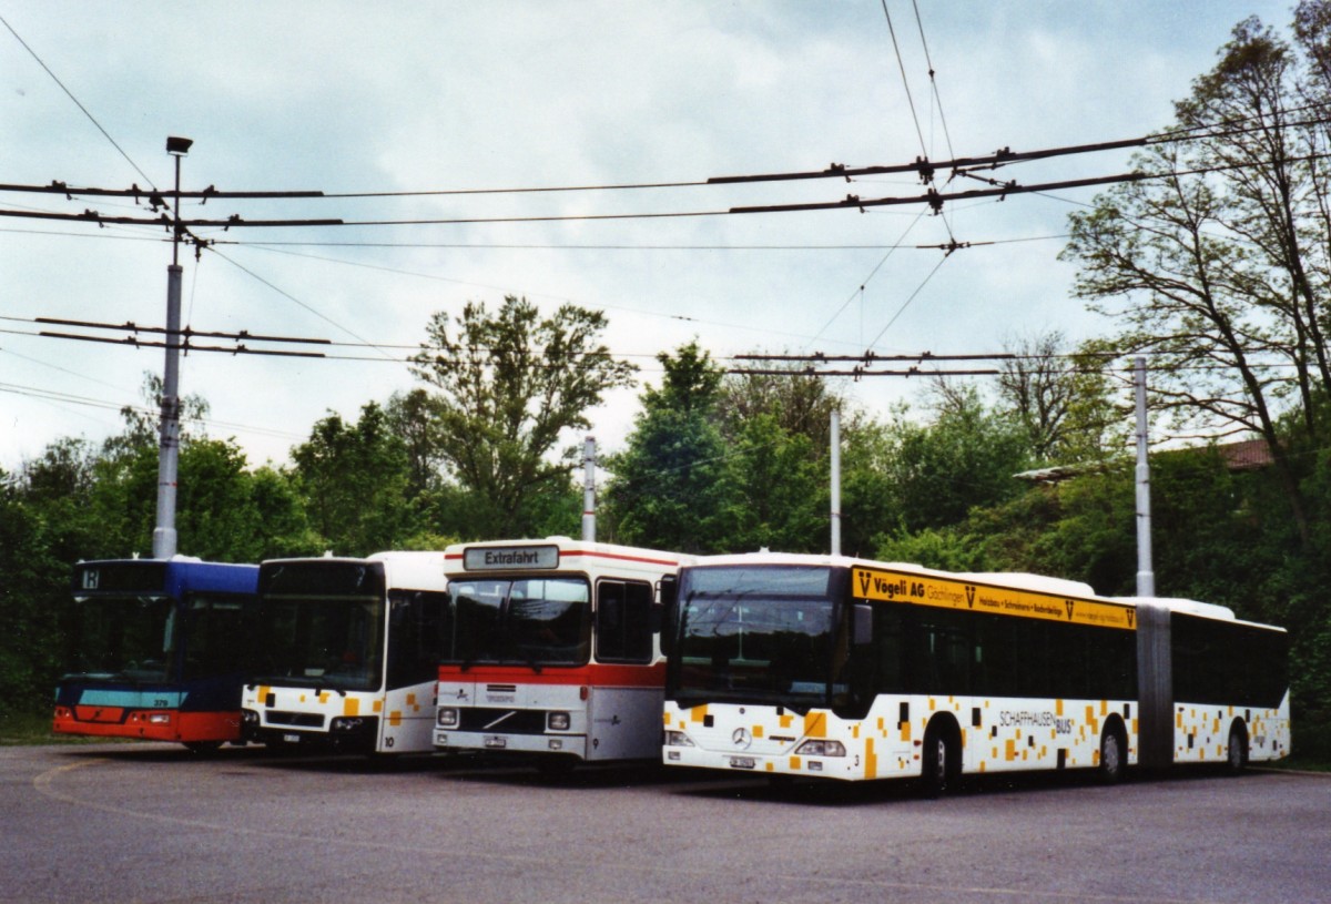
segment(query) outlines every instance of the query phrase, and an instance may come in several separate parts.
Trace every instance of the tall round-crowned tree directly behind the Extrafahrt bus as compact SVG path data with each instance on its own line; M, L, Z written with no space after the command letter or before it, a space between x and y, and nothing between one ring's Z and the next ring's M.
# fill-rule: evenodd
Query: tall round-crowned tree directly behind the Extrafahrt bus
M606 317L563 305L539 318L512 296L494 314L467 302L453 324L435 314L413 373L437 391L431 442L462 489L482 501L469 537L516 537L535 529L538 501L567 487L576 450L556 445L591 426L606 391L632 383L635 367L600 342Z

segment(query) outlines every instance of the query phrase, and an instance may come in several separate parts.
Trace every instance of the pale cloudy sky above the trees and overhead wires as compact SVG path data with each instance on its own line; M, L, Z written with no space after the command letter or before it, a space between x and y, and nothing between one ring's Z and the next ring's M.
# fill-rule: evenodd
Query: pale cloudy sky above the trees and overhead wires
M0 184L169 189L168 136L194 141L186 190L327 194L699 182L1110 141L1167 125L1236 21L1284 28L1290 5L5 0ZM998 176L1036 184L1126 168L1127 153L1113 152ZM200 261L182 254L188 325L343 345L319 361L193 353L181 391L210 403L210 435L234 437L252 465L282 463L329 411L354 419L410 389L402 358L430 316L469 300L603 310L608 345L646 381L659 378L658 353L692 338L729 363L868 347L994 353L1014 337L1105 330L1057 260L1087 189L957 202L944 216L908 205L586 218L848 193L921 188L878 176L186 202L190 218L473 222L196 230L217 244ZM89 208L149 216L126 198L0 190L5 212ZM37 337L52 328L33 318L164 325L165 240L145 226L0 217L0 469L60 437L120 430L118 407L140 401L162 351ZM952 240L976 246L918 248ZM920 403L924 389L881 377L852 393L881 413ZM636 391L595 411L603 450L620 447Z

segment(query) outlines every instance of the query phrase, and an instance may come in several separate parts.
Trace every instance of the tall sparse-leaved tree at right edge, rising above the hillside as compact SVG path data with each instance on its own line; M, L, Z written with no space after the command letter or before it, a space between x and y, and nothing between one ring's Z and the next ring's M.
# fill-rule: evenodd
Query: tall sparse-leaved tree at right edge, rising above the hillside
M1331 425L1331 170L1308 101L1331 99L1328 5L1299 4L1298 45L1239 23L1215 68L1175 105L1171 140L1135 158L1146 176L1071 216L1063 252L1077 294L1119 324L1113 347L1151 354L1151 394L1177 427L1266 439L1303 542L1304 458ZM1111 306L1114 305L1114 306ZM1294 435L1279 429L1294 406Z

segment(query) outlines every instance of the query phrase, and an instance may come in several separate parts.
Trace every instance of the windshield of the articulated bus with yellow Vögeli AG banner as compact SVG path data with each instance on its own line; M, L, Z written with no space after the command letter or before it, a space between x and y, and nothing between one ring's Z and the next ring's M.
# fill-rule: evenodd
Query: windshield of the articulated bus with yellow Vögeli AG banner
M831 570L821 566L687 570L672 699L825 704L836 634L829 584Z

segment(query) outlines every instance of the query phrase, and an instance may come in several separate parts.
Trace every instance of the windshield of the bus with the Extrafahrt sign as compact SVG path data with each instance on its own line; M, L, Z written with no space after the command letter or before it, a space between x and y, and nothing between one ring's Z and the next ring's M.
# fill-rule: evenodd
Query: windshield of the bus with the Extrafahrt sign
M591 592L584 578L450 580L453 635L445 662L580 666L591 652Z

